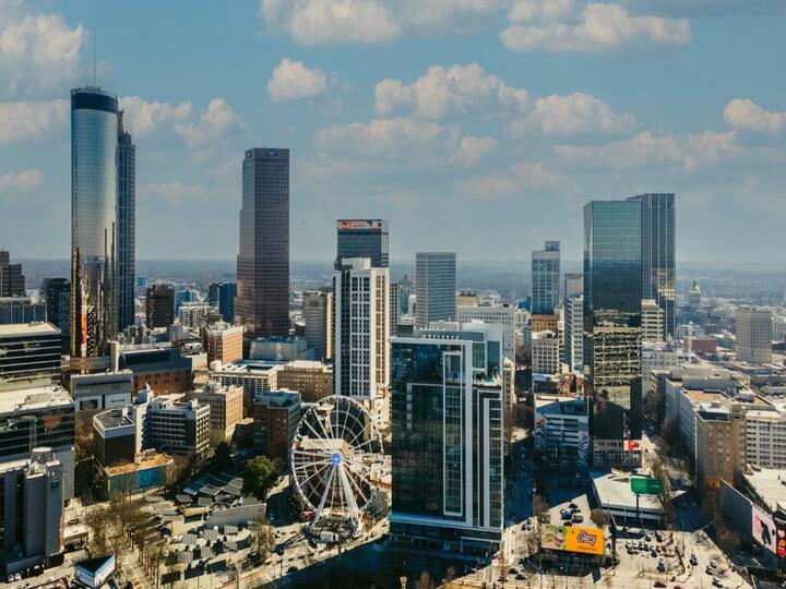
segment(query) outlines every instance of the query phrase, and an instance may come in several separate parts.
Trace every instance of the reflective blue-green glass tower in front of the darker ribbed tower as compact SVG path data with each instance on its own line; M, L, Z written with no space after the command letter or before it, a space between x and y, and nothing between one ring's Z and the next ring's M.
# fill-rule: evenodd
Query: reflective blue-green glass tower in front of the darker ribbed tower
M584 206L584 328L596 466L641 461L641 202Z

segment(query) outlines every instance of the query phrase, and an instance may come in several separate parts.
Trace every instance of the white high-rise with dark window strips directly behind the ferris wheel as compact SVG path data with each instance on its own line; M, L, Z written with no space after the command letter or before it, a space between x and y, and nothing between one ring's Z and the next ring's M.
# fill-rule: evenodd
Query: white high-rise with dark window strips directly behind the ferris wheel
M388 386L389 269L345 257L333 273L335 394L362 400Z

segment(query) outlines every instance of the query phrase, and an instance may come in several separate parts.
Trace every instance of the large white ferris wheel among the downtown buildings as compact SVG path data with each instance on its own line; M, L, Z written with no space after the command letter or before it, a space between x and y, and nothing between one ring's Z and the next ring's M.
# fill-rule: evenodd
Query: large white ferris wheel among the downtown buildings
M357 529L377 488L373 473L384 462L370 412L349 397L325 397L300 419L291 448L293 479L312 526L348 522Z

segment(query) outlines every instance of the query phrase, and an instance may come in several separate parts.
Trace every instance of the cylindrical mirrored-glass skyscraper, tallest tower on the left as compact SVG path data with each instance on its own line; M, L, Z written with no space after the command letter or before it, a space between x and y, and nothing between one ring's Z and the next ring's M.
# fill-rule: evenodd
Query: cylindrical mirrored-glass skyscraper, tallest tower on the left
M71 365L106 368L117 333L118 101L71 91Z

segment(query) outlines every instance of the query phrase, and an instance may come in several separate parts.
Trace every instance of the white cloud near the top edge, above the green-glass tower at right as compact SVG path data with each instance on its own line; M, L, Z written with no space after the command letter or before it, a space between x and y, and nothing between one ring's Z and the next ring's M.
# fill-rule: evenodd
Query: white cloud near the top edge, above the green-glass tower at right
M657 52L691 39L687 19L632 15L616 3L517 2L500 38L514 51Z

